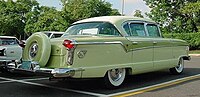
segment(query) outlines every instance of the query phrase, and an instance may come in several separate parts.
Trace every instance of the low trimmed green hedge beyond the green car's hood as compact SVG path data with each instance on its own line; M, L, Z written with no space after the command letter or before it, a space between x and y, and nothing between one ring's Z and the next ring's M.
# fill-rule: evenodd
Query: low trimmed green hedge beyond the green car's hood
M164 34L165 38L182 39L189 43L190 50L200 49L200 32Z

